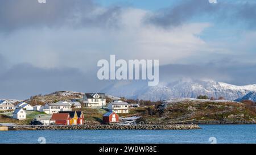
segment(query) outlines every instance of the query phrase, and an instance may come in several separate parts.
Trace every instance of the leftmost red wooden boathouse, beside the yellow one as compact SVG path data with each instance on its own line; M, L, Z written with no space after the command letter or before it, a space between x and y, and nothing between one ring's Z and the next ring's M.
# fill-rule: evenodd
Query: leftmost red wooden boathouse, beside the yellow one
M70 125L71 117L68 113L52 114L52 118L56 125Z

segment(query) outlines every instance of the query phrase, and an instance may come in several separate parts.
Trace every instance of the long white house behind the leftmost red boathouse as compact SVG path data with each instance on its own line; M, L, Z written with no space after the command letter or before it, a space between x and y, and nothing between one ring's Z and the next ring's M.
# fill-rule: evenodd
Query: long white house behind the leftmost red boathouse
M59 111L72 111L71 104L67 101L59 101L56 103L46 103L44 105L44 112L46 114L54 114L58 113Z

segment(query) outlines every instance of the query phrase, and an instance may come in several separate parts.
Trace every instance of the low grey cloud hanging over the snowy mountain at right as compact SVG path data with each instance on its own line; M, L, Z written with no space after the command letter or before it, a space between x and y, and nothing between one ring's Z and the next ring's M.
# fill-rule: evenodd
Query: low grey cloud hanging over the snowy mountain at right
M214 80L233 85L256 84L256 64L222 60L208 64L168 64L159 68L160 82L179 79Z

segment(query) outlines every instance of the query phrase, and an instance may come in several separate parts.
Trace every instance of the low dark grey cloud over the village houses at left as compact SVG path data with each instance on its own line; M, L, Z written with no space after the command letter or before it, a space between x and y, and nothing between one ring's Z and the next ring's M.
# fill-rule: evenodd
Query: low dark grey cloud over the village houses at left
M18 64L1 70L0 98L26 99L31 95L53 91L100 91L107 81L99 81L93 73L82 73L76 68L37 68L30 64Z

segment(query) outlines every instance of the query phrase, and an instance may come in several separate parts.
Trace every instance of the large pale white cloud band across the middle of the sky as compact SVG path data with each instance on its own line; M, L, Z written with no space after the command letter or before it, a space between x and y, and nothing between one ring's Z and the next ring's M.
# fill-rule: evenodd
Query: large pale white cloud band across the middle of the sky
M120 27L114 29L36 28L0 35L0 53L12 65L29 63L39 68L73 67L86 71L96 68L100 59L109 60L110 55L125 60L159 59L160 64L170 64L211 52L204 40L197 37L210 27L209 23L163 30L145 25L142 19L146 14L139 9L123 10L119 15Z

